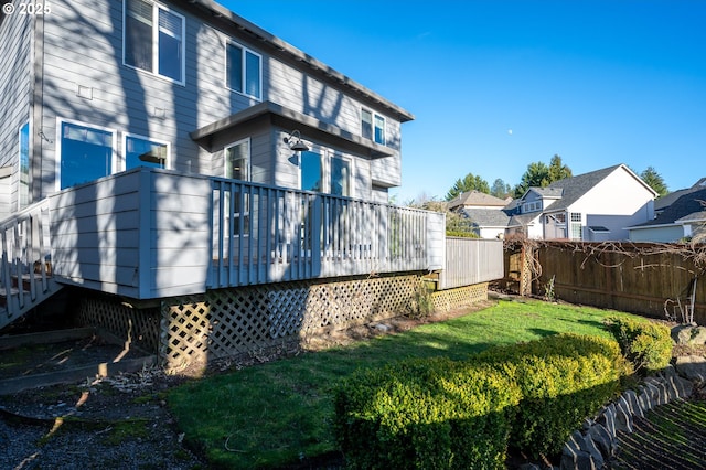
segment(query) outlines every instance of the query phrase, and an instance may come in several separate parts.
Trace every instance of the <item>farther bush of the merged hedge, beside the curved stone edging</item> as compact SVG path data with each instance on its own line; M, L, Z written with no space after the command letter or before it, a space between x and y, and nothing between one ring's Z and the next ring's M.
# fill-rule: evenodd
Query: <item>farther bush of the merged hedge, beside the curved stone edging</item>
M630 371L614 341L576 334L495 348L478 359L511 367L523 396L511 442L535 458L560 451L586 417L619 394Z

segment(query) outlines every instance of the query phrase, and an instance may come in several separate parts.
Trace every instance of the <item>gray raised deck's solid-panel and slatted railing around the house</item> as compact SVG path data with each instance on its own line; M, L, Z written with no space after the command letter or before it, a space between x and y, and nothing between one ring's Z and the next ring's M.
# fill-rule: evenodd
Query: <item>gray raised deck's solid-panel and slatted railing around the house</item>
M50 197L52 266L133 299L443 267L442 214L136 169Z

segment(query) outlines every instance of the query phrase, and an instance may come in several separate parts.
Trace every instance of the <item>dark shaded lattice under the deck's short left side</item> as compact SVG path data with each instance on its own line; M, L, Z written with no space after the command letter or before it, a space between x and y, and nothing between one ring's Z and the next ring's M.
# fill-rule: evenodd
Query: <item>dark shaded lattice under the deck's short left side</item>
M81 301L78 322L86 327L104 328L149 353L158 351L159 308L138 310L114 299L85 298Z

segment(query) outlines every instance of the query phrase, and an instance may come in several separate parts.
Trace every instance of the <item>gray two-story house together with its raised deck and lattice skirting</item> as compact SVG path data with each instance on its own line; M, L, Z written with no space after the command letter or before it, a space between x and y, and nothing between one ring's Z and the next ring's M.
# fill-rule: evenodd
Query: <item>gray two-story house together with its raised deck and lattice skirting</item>
M10 4L0 329L82 289L179 363L404 310L443 268L443 215L387 204L407 110L211 0Z

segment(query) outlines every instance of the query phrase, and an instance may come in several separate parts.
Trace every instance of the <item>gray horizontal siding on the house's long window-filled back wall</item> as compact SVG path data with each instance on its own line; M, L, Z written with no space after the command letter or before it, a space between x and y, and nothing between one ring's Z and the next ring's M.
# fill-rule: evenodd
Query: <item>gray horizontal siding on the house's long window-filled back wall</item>
M186 19L184 85L122 65L122 1L65 0L53 4L52 14L45 18L41 120L44 133L55 136L56 119L64 118L148 136L171 142L170 168L222 174L223 167L214 163L214 156L194 143L189 132L257 103L224 86L224 44L231 35L239 33L204 24L181 8L174 10ZM263 55L263 99L360 135L363 104L349 95L347 89L299 70L299 63L276 57L272 51L263 50L263 43L236 42ZM79 85L93 89L93 99L76 95ZM154 118L156 108L162 109L165 117ZM387 140L398 149L399 122L387 117L386 125ZM43 141L43 194L54 191L55 140ZM287 173L291 171L289 156L279 153L281 161L272 162L274 149L268 139L253 140L253 161L260 162L259 174L253 173L256 181L270 184L286 181L296 188L298 174ZM264 164L265 159L269 159L269 164ZM370 197L371 181L387 186L399 184L398 160L395 157L385 163L373 163L371 168L367 161L356 164L361 169L356 195ZM286 174L276 177L274 173L280 170Z

